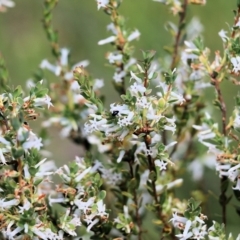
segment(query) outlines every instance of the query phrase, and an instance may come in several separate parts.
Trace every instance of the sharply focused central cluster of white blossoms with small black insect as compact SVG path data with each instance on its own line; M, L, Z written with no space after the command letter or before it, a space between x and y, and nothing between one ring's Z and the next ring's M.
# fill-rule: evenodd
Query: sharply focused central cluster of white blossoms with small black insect
M129 86L127 94L123 97L125 102L112 103L110 111L101 115L90 114L89 120L84 125L86 132L102 132L105 138L120 142L124 142L126 139L134 141L133 134L137 135L138 131L142 131L146 123L151 128L153 136L158 133L155 129L156 125L161 124L163 129L172 133L175 132L174 118L168 118L163 114L168 105L164 100L167 85L162 83L159 86L160 91L157 96L147 95L147 88L144 87L143 80L133 72L131 72L131 76L134 81ZM171 92L168 101L181 104L185 100L180 94ZM120 162L124 156L125 149L120 147L120 150L122 151L117 162ZM145 150L146 155L151 155L154 147L152 151L146 151L144 147L142 147L142 150Z

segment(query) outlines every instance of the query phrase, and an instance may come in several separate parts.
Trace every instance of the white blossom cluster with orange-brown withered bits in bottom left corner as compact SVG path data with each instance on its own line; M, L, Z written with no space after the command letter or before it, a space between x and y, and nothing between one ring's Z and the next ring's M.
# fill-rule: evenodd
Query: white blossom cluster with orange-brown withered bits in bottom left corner
M33 169L35 169L36 175L32 177ZM26 162L24 164L24 185L15 188L15 199L12 200L0 200L0 207L2 209L2 214L8 216L10 212L14 212L15 218L9 221L5 228L2 229L3 237L10 240L22 239L25 234L38 236L41 239L56 239L62 240L62 232L54 233L49 223L42 222L37 214L37 212L45 207L45 199L43 196L49 193L49 190L46 191L46 183L51 182L51 175L56 170L56 166L52 161L47 161L43 159L38 162L35 166L31 166L31 174L29 172L29 166ZM11 174L11 171L4 172L6 178L10 179L12 177L16 177ZM38 186L35 189L32 198L29 199L27 197L29 191L29 184L36 184L38 182ZM40 183L40 184L39 184ZM10 189L8 189L9 191ZM18 196L21 192L26 193L25 197ZM30 217L31 216L31 217ZM30 221L31 219L34 219Z

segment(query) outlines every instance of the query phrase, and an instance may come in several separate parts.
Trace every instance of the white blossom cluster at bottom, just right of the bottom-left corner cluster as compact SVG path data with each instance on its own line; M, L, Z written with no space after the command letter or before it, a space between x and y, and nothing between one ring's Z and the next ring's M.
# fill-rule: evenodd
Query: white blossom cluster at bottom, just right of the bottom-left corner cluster
M97 223L103 224L108 219L103 198L99 198L97 195L88 196L88 191L92 191L91 188L96 188L95 191L98 191L99 186L97 184L100 183L100 179L97 178L96 182L94 181L94 174L96 174L98 167L97 164L89 167L83 158L76 157L70 166L64 165L56 171L56 174L63 179L64 185L56 189L56 193L62 194L58 194L57 197L49 195L49 203L50 205L69 203L72 206L71 209L75 209L73 218L69 216L70 210L67 210L66 215L61 218L60 225L64 231L72 236L77 235L75 229L83 223L87 225L87 231L89 232L94 225ZM90 177L92 183L89 182Z

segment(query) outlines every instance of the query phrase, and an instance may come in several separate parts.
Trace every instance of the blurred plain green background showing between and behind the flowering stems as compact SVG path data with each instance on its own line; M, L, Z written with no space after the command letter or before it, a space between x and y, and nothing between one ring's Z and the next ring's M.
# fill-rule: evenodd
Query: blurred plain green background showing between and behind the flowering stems
M0 14L0 52L6 60L10 77L13 84L25 85L40 62L47 58L54 61L51 55L50 46L42 28L42 0L16 0L16 7L9 9L7 13ZM187 18L198 16L205 26L203 33L205 45L212 53L222 49L222 41L218 36L221 29L228 29L227 23L233 23L233 12L235 1L208 0L205 7L191 6L188 9ZM125 0L120 13L127 19L129 28L139 29L140 40L136 44L136 56L139 56L139 49L154 49L157 56L164 54L164 45L171 41L170 35L164 29L164 24L171 20L176 22L177 17L172 17L167 7L151 0ZM106 80L104 92L107 93L107 102L116 98L116 93L111 86L113 69L105 66L106 51L111 51L110 45L98 46L97 42L110 35L106 31L109 17L102 11L97 11L94 0L59 0L54 10L53 24L59 32L59 43L61 47L72 50L72 62L90 60L89 71L95 78ZM236 94L236 87L229 84L223 86L224 97L228 105L228 114L231 112ZM209 91L209 95L213 92ZM207 96L210 99L212 96ZM206 100L207 101L207 100ZM216 115L218 116L218 115ZM63 161L70 161L81 150L70 141L58 139L57 133L52 132L54 142L51 145L58 165ZM219 180L215 173L208 172L208 177L203 179L202 185L205 190L211 190L214 194L219 193ZM191 183L189 176L185 176L184 190L179 192L181 197L190 197L190 191L196 187ZM215 179L215 180L214 180ZM231 192L231 191L230 191ZM230 193L229 192L229 193ZM218 221L220 209L218 200L209 197L211 217ZM235 234L240 229L240 219L230 206L228 214L228 231Z

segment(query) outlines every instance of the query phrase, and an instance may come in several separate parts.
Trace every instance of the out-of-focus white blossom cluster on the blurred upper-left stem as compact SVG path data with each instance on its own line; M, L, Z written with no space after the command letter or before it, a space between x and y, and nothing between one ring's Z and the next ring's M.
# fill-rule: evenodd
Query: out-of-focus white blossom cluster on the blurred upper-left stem
M47 69L54 73L58 77L63 77L64 81L67 81L69 86L65 88L64 84L62 82L59 82L56 84L56 88L61 88L63 87L62 91L67 91L64 96L61 96L61 101L64 105L69 102L73 102L75 106L72 106L72 111L77 112L78 119L75 119L74 117L70 116L64 116L61 113L56 114L53 117L50 117L48 120L44 121L42 123L43 127L50 127L52 125L60 125L62 127L60 131L60 136L63 138L67 138L70 136L71 132L80 132L82 136L89 137L85 134L83 129L81 128L80 119L82 121L85 121L87 116L90 113L94 113L93 108L87 107L87 100L83 97L81 94L81 89L79 86L78 81L74 80L73 76L73 71L76 67L82 67L86 68L89 65L88 60L83 60L80 61L76 64L74 64L70 69L69 69L69 50L66 48L60 49L60 60L57 63L57 65L51 64L48 60L43 60L40 64L40 68L42 69ZM29 83L28 83L29 84ZM61 87L58 87L58 85L63 84ZM32 83L31 83L32 86ZM98 91L100 88L104 86L104 81L102 79L94 79L93 80L93 90ZM54 99L55 101L59 101L59 99ZM79 109L80 108L80 109Z

